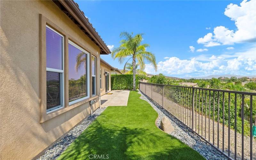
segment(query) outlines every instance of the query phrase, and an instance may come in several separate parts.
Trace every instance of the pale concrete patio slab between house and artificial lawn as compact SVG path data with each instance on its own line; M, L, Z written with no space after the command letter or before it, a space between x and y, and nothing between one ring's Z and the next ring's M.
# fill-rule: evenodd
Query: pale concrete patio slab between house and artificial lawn
M108 106L127 106L129 90L113 90L109 93L100 97L101 107Z

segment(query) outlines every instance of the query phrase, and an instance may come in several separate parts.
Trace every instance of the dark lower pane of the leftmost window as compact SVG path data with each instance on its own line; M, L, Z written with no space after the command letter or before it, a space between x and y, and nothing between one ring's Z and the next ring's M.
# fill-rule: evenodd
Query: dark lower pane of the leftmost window
M61 73L57 72L46 72L46 98L47 105L46 109L56 108L61 106L61 81L60 81Z

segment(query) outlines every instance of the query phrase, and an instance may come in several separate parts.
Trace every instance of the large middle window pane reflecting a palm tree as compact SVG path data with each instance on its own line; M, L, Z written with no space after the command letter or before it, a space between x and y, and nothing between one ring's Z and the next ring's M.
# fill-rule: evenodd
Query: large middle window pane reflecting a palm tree
M68 96L69 102L87 96L87 54L68 44Z

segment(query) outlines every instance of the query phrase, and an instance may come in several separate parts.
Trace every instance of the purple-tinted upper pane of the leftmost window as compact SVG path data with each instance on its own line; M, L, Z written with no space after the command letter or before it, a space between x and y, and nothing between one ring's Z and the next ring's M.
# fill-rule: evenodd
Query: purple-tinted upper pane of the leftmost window
M62 36L46 27L46 67L62 70Z

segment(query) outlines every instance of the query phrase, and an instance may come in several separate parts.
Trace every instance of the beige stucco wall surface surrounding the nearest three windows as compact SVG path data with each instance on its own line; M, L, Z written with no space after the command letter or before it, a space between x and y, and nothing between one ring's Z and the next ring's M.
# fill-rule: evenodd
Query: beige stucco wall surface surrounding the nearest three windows
M0 5L0 159L32 159L90 114L86 102L40 123L39 14L97 56L97 93L100 50L52 1L0 1Z

